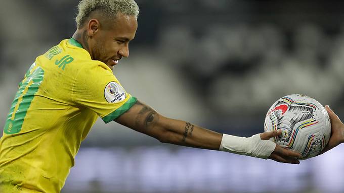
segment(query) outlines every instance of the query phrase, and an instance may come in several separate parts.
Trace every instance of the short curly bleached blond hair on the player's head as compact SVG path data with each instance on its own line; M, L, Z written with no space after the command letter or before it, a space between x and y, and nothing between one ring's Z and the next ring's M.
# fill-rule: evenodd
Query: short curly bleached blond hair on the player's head
M78 14L75 18L76 27L80 29L94 11L100 11L108 19L114 19L117 13L137 18L140 12L134 0L82 0L79 2Z

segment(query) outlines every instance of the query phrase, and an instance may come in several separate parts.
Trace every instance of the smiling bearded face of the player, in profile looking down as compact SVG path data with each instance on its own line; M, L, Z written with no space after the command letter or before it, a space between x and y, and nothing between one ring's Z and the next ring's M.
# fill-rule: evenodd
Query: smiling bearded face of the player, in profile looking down
M121 13L111 23L100 23L97 33L90 37L92 59L106 63L112 70L122 57L129 56L129 42L134 39L137 27L134 16Z

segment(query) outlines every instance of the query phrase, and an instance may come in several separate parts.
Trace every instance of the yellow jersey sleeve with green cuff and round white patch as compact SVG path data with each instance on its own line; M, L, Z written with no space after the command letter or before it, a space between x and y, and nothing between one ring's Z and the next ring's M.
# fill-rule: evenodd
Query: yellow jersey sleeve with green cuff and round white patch
M129 110L137 99L125 92L111 70L104 65L79 70L72 96L77 105L93 110L108 123Z

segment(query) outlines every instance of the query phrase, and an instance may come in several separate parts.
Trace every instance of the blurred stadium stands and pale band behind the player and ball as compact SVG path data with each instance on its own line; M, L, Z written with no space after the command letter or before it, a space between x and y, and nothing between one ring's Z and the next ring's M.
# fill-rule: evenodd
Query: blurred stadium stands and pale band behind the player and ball
M77 1L1 3L4 125L35 57L73 34ZM270 105L287 94L312 96L344 115L344 2L137 3L137 36L114 74L160 113L239 136L263 132ZM98 121L62 193L344 192L343 150L288 165L160 144Z

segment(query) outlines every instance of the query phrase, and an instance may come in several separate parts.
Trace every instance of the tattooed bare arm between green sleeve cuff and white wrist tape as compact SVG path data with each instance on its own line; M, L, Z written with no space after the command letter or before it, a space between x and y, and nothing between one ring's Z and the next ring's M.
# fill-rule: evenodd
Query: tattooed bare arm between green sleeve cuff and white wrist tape
M115 121L162 143L219 150L222 139L222 134L190 122L166 118L140 101Z

